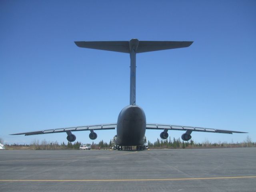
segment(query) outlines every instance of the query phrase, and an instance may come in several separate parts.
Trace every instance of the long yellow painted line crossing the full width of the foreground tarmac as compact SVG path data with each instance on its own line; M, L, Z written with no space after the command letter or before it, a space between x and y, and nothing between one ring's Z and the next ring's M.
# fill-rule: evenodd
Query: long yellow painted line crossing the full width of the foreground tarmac
M182 181L182 180L206 180L206 179L243 179L256 178L256 176L236 177L206 177L206 178L169 178L169 179L95 179L95 180L0 180L0 182L116 182L116 181Z

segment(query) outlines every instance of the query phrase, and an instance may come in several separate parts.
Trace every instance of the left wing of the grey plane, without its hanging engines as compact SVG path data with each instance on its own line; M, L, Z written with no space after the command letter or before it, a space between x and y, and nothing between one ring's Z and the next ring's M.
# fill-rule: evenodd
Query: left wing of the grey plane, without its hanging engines
M109 124L97 124L97 125L86 125L86 126L77 126L77 127L68 127L68 128L58 128L58 129L46 129L40 131L31 131L31 132L23 132L23 133L15 133L11 135L38 135L38 134L47 134L47 133L61 133L67 131L90 131L90 130L107 130L107 129L115 129L116 123Z

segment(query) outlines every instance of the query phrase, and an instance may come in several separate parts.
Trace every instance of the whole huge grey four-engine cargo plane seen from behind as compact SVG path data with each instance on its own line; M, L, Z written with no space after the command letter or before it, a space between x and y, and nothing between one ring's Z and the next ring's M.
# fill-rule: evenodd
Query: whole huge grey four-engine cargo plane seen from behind
M116 136L114 137L115 144L118 149L131 149L130 146L136 146L136 149L142 149L145 140L146 129L163 130L160 133L160 138L168 138L168 130L182 130L186 131L181 138L184 141L191 139L193 131L210 132L210 133L246 133L221 129L201 128L194 126L177 126L171 124L157 124L147 123L146 116L143 109L136 105L136 53L167 50L174 48L185 48L192 44L191 41L139 41L138 39L131 39L130 41L78 41L75 44L82 48L91 48L98 50L116 51L130 54L130 105L124 107L119 113L117 123L97 124L88 126L76 126L69 128L47 129L41 131L32 131L17 133L12 135L36 135L48 133L67 133L67 140L74 142L76 136L72 134L75 131L90 131L89 138L94 140L97 138L95 130L115 129Z

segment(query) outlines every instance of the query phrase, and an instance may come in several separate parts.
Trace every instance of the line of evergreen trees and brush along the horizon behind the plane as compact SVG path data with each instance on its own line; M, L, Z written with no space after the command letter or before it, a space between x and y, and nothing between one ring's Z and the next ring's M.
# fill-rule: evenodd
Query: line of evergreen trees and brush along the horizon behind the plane
M45 139L41 142L39 140L34 140L30 144L5 144L6 149L30 149L30 150L79 150L80 145L83 145L82 142L68 142L68 143L58 143L46 141ZM107 150L110 149L113 145L113 141L104 142L101 140L98 144L92 141L91 149L101 149ZM205 140L204 142L194 142L190 140L187 142L181 141L180 138L171 139L170 137L166 140L157 139L155 142L148 141L148 148L151 149L161 149L161 148L170 148L170 149L184 149L184 148L231 148L231 147L256 147L256 142L252 142L251 138L247 136L246 140L243 142L209 142Z

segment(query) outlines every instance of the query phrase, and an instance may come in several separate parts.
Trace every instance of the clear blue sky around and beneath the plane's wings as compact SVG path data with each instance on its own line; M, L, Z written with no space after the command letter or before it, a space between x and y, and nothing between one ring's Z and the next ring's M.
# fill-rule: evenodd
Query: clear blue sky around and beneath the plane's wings
M240 130L193 132L196 142L256 141L256 1L0 1L0 137L66 142L16 132L116 122L129 104L129 54L74 41L194 41L137 54L136 102L147 122ZM178 138L183 132L171 131ZM92 142L89 132L78 141ZM116 130L98 131L109 142ZM147 130L153 142L160 131Z

